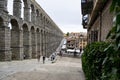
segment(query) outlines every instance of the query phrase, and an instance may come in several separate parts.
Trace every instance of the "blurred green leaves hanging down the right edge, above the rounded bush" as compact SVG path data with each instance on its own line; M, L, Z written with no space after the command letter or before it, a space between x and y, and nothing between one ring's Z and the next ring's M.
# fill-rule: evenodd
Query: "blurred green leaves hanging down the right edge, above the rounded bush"
M109 31L107 39L112 40L111 47L120 54L120 0L112 0L110 12L115 12L115 16L113 19L113 27Z

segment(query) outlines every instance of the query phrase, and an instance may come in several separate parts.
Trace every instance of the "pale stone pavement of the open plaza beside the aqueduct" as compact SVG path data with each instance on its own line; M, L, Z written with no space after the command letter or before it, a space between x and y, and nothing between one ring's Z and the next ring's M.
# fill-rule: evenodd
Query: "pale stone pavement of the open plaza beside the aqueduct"
M80 58L58 57L45 64L36 59L0 62L0 80L85 80Z

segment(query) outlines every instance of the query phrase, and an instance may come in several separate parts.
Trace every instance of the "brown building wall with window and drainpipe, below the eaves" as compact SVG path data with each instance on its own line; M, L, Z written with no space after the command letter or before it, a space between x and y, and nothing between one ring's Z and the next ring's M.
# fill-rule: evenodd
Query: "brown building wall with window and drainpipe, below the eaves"
M88 42L106 40L106 36L112 27L114 16L114 13L110 13L110 5L111 1L108 1L102 6L102 10L99 9L93 24L89 26Z

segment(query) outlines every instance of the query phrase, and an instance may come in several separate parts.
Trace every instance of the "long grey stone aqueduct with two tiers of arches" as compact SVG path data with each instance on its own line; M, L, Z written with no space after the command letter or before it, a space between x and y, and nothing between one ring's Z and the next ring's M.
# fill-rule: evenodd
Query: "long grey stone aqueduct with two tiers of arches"
M35 0L13 0L13 15L7 4L8 0L0 0L0 61L48 57L56 50L63 32Z

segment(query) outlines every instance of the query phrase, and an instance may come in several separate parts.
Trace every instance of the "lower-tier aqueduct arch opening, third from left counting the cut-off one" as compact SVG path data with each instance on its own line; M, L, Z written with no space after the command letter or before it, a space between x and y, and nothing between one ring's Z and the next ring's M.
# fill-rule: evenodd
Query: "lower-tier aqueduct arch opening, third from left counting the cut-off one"
M23 53L24 59L31 58L31 44L30 44L30 32L28 31L28 25L26 23L23 24Z

